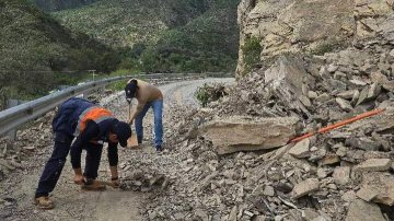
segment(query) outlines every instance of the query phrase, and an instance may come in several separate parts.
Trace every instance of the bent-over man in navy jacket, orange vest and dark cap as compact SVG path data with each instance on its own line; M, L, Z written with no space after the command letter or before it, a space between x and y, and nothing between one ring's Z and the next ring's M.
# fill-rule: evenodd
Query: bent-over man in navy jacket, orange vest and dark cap
M66 158L70 151L71 165L76 173L74 183L88 190L103 190L97 182L103 143L108 142L108 161L114 185L119 185L117 143L127 146L131 129L127 123L119 121L112 113L86 100L72 97L59 108L53 121L55 132L54 152L44 167L35 193L35 203L42 209L53 209L49 198L60 177ZM77 137L71 146L72 140ZM70 150L71 149L71 150ZM86 150L84 173L81 168L82 149Z

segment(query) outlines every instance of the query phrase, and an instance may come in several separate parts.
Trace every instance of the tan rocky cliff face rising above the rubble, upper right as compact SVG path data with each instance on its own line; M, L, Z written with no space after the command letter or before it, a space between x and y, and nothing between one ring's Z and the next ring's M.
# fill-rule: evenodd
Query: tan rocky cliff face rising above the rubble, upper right
M236 72L255 65L245 60L251 39L259 42L263 65L286 53L324 55L370 39L393 44L393 0L243 0Z

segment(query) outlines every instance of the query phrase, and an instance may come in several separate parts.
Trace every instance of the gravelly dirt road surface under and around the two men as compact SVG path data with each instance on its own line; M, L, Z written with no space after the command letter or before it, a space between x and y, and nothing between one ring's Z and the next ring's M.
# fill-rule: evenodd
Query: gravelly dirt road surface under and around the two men
M207 82L231 83L234 79L205 79L185 82L170 83L161 85L164 93L164 136L170 128L171 121L166 116L171 115L172 106L187 105L190 108L198 106L194 98L194 93ZM112 94L101 101L102 105L108 107L120 119L126 119L127 106L123 92ZM152 140L152 112L149 111L144 119L144 148L139 150L119 149L120 174L121 162L132 161L134 159L146 159L146 162L157 163L165 172L166 167L176 166L174 155L162 154L160 160L158 153L149 144ZM35 139L31 138L32 143ZM22 170L16 170L10 174L9 178L0 183L0 220L97 220L97 221L123 221L123 220L147 220L143 218L141 208L149 194L125 191L107 187L106 191L92 193L80 189L73 184L73 172L69 163L69 158L56 186L51 194L56 208L43 211L37 209L32 202L34 191L37 186L39 175L45 162L49 158L53 149L51 135L44 136L45 147L37 149L32 156L22 162ZM165 142L165 141L164 141ZM82 156L82 163L84 155ZM159 162L158 162L159 161ZM121 175L120 175L121 176ZM103 153L99 178L107 181L109 178L109 166L106 153Z

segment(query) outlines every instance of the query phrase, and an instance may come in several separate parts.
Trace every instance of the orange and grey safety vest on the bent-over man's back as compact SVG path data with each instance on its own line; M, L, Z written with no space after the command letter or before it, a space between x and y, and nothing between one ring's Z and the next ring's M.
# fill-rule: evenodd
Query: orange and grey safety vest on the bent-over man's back
M93 120L99 124L109 118L114 118L109 111L99 106L89 107L79 116L78 125L73 135L76 137L79 136L85 129L88 120Z

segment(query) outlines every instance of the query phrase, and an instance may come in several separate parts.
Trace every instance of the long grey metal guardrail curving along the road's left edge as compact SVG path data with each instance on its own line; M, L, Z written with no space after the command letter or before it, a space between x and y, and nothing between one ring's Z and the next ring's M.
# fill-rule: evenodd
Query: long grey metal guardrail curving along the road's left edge
M11 107L9 109L0 112L0 135L15 129L16 127L44 115L51 111L67 98L77 96L89 91L103 88L108 83L120 81L124 79L137 78L137 79L163 79L164 81L178 78L183 80L185 78L231 78L230 73L151 73L151 74L135 74L135 75L123 75L111 79L103 79L100 81L88 82L78 86L70 86L66 90L59 91L47 96Z

